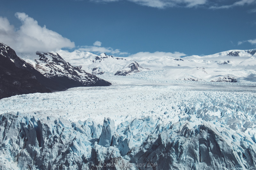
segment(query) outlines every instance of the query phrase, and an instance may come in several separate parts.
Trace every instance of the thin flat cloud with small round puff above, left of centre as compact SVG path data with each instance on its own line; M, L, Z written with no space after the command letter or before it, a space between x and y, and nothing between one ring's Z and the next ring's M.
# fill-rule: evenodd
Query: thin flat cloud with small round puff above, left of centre
M100 53L107 53L111 55L129 55L127 52L121 52L120 49L113 49L111 47L100 47L101 42L95 41L93 46L80 46L77 50L79 51L89 51L92 53L100 54Z

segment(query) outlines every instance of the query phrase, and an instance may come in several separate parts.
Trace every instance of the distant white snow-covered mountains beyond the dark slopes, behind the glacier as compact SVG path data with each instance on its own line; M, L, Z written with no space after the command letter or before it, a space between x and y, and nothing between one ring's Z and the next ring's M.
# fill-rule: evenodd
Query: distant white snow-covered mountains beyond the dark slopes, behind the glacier
M148 76L167 80L239 82L251 79L254 77L253 75L256 75L255 52L256 49L229 50L213 55L192 55L182 58L167 55L157 57L132 55L119 58L105 53L98 56L77 50L71 53L60 50L58 53L72 65L80 66L92 74ZM147 69L131 71L129 65L135 62L141 68ZM122 73L126 71L129 74Z

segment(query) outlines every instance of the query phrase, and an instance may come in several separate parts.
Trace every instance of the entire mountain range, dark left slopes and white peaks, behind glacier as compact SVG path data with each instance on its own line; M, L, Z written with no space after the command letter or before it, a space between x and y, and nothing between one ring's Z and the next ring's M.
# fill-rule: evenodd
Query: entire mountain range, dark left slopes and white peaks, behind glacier
M97 75L202 82L256 81L256 49L176 58L167 55L114 57L105 53L95 55L78 50L16 55L12 48L3 43L0 44L0 49L1 98L80 86L111 85L96 77Z

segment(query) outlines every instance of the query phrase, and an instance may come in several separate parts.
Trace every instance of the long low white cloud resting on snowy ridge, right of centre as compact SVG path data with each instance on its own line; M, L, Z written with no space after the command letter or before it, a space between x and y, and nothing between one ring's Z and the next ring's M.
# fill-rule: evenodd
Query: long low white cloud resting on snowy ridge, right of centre
M174 53L166 53L166 52L160 52L160 51L156 51L154 53L150 53L150 52L139 52L136 54L132 54L129 57L133 57L133 58L141 58L141 57L147 57L149 60L156 58L156 59L161 59L163 57L173 57L173 58L180 58L181 56L186 56L186 54L184 53L180 53L180 52L174 52Z

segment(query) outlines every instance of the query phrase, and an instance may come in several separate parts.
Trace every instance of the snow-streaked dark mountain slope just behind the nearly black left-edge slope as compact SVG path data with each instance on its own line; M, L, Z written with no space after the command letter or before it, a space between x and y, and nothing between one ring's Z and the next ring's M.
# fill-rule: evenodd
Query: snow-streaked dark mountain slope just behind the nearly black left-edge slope
M36 54L19 55L45 77L58 81L67 88L111 85L111 83L85 72L81 67L70 65L58 53L36 52Z

